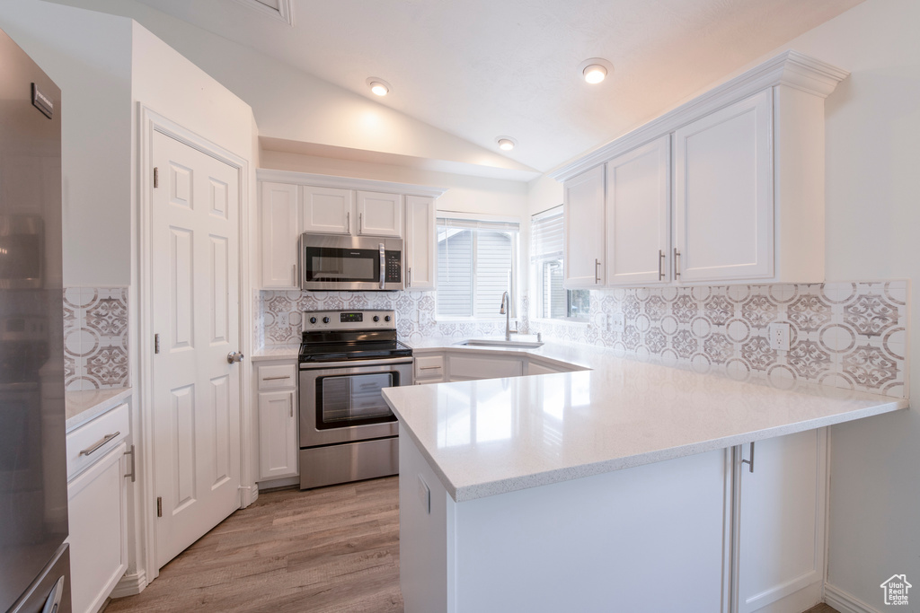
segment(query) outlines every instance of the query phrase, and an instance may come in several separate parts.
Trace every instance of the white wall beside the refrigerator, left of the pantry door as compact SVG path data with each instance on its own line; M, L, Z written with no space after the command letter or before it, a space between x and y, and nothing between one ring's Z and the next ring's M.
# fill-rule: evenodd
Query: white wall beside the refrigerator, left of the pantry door
M131 281L131 20L37 0L0 28L62 89L63 284Z

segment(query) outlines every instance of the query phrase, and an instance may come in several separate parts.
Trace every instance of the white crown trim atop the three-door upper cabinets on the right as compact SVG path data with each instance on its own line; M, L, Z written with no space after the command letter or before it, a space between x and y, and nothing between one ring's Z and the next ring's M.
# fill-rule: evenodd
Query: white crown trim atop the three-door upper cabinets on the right
M775 85L787 85L824 98L830 96L837 84L848 75L849 73L842 68L816 60L799 51L785 51L578 160L559 166L547 175L557 181L565 181L719 108Z

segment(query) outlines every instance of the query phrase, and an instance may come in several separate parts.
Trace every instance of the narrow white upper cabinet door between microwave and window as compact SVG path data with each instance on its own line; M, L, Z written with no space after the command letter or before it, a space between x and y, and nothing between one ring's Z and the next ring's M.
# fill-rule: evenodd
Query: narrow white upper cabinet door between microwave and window
M406 197L406 289L435 289L438 272L434 199Z

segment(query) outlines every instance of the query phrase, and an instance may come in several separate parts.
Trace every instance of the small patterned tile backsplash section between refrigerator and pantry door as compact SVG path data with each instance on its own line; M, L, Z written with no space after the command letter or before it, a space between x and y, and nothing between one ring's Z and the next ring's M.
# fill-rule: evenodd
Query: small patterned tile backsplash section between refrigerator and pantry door
M128 289L63 290L64 386L121 388L128 380Z

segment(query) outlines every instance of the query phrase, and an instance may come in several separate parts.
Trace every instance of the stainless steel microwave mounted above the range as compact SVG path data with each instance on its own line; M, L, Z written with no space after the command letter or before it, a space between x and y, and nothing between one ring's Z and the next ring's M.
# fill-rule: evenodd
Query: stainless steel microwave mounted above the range
M405 289L401 238L303 233L299 250L301 289Z

